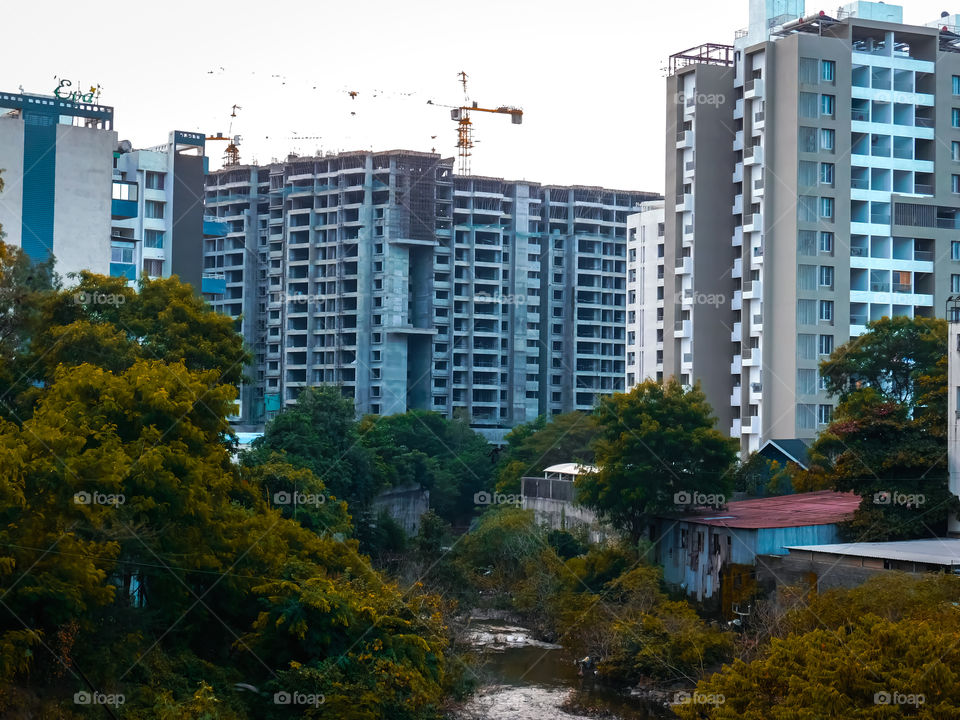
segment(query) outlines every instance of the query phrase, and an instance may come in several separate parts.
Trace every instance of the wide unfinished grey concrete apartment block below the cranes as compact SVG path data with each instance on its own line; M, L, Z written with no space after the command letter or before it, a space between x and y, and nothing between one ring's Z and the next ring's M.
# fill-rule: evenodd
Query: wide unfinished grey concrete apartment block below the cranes
M622 390L626 218L652 193L455 176L413 151L208 177L208 293L255 352L257 425L304 387L360 413L464 413L492 438Z

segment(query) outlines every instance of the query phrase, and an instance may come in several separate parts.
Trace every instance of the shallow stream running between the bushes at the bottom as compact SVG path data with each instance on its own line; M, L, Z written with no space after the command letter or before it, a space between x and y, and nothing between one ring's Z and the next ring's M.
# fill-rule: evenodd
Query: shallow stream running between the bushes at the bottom
M673 713L577 676L561 646L536 640L530 630L504 620L473 620L469 640L480 653L480 681L455 720L654 720ZM577 710L567 706L577 694Z

